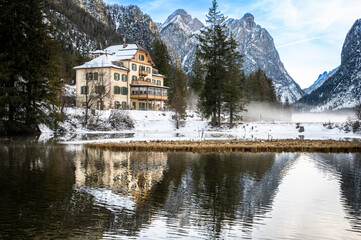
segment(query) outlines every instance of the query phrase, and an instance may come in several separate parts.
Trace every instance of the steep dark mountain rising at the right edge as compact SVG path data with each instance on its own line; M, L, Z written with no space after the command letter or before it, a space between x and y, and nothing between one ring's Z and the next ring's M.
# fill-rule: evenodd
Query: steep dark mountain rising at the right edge
M361 19L348 32L341 66L321 87L303 97L296 106L311 111L352 108L361 100Z

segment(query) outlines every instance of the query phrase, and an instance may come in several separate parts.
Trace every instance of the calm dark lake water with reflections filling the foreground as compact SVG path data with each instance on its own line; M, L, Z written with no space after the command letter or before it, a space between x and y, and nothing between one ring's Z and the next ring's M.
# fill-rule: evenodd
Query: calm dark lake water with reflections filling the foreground
M360 154L0 142L0 239L361 239Z

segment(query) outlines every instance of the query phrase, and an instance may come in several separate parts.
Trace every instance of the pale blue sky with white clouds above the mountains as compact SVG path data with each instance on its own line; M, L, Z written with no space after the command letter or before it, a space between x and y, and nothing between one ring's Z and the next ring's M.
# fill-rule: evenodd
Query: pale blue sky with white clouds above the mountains
M204 22L211 0L104 0L108 4L137 5L153 21L164 22L176 9L185 9ZM356 19L361 0L219 0L229 18L252 13L257 24L274 39L291 77L305 88L341 61L342 44Z

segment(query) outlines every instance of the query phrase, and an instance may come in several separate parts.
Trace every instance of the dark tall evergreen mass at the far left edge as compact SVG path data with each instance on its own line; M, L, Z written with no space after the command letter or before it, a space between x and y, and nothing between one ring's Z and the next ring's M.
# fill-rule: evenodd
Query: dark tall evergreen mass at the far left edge
M0 2L0 112L3 133L35 132L57 117L58 44L42 0Z

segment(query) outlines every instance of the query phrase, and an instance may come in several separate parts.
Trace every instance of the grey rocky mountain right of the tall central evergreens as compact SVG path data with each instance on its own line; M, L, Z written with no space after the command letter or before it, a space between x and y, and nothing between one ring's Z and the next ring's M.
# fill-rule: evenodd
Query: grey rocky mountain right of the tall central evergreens
M261 68L267 77L273 80L277 94L285 102L300 99L305 93L287 73L268 31L256 24L252 14L247 13L241 19L229 19L226 26L239 44L243 54L245 74Z

